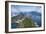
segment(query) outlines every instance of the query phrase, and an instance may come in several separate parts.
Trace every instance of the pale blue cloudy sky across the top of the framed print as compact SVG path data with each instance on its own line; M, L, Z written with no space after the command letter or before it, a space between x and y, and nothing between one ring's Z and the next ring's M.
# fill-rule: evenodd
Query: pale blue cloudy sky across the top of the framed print
M11 13L13 15L14 13L32 11L41 13L41 6L11 5Z

